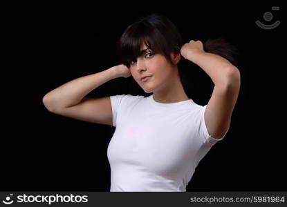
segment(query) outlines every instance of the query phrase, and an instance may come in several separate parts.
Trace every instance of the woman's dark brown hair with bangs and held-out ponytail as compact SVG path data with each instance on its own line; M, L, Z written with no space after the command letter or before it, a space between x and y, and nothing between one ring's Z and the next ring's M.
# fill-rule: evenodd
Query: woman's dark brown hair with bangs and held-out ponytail
M183 38L174 23L167 17L162 14L150 14L132 23L123 32L118 41L120 62L129 68L131 61L140 56L142 43L145 43L154 53L164 55L171 62L170 54L180 52ZM208 39L203 46L205 52L220 55L234 62L232 52L236 48L224 39Z

